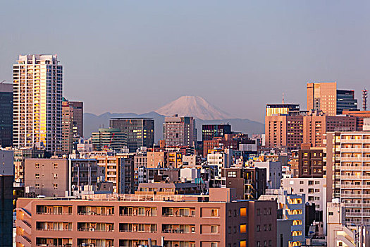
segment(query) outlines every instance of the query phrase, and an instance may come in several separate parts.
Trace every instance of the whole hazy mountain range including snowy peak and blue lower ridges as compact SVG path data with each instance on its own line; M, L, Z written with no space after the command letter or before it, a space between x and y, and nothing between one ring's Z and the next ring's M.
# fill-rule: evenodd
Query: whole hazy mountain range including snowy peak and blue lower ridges
M112 117L150 117L154 119L155 140L162 138L162 126L165 116L194 116L198 130L198 140L202 140L202 124L206 123L230 123L232 131L243 133L264 133L264 124L249 119L235 119L226 112L206 102L199 96L183 96L154 112L146 114L135 113L110 113L106 112L99 116L91 113L84 114L84 135L86 138L98 128L109 128L109 119Z

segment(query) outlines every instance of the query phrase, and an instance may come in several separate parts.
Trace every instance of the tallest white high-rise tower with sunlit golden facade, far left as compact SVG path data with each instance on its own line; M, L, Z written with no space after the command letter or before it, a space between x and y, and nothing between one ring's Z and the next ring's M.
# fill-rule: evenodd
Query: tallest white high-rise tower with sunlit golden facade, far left
M13 65L13 146L61 150L63 66L56 55L20 55Z

